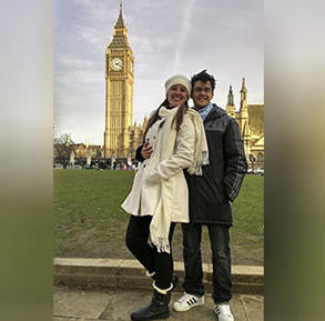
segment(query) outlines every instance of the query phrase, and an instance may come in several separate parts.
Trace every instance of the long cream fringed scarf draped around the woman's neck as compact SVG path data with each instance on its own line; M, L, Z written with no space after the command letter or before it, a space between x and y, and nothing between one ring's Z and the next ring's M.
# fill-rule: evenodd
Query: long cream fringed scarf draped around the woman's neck
M162 107L159 111L161 118L165 118L163 127L162 139L158 141L156 151L154 157L160 158L159 161L163 161L170 158L174 152L174 146L177 137L177 131L173 119L179 108L167 110ZM193 161L187 168L190 174L202 175L202 165L209 163L209 150L204 132L204 127L200 114L189 109L186 111L191 116L191 119L195 129L194 141L194 154ZM165 180L161 183L161 200L153 213L153 218L150 224L150 241L153 243L159 252L171 252L169 242L169 232L171 227L171 217L173 212L173 185L171 180Z

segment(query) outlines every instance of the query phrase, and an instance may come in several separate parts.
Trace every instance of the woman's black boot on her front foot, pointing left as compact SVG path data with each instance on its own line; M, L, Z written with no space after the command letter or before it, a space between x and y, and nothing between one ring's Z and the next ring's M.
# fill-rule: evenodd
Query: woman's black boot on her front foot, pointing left
M156 319L166 319L170 317L169 303L171 301L171 291L167 294L161 294L153 290L151 303L131 314L133 321L148 321Z

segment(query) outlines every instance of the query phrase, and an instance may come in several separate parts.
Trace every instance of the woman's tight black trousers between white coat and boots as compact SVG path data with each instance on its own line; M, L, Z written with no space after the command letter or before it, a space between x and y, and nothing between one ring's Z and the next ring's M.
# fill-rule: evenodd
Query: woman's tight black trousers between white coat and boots
M160 289L171 287L173 277L172 238L175 223L171 223L170 244L171 253L158 252L154 245L148 243L152 217L130 217L126 230L126 247L138 261L149 271L155 272L155 285Z

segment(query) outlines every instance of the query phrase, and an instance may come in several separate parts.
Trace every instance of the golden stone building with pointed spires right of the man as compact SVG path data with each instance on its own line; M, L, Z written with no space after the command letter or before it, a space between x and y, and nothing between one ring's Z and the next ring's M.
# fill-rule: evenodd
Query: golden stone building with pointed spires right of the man
M230 87L226 112L233 117L244 140L247 161L264 163L264 104L248 104L245 78L241 89L241 107L235 110L233 89Z

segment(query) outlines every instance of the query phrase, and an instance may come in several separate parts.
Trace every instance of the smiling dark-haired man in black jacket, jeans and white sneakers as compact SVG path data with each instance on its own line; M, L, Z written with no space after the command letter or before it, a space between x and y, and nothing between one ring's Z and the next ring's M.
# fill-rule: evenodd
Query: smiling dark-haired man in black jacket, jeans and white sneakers
M183 223L184 295L174 303L182 312L204 304L202 282L202 225L209 229L213 263L213 300L219 321L233 321L230 227L232 205L246 172L247 163L236 121L211 103L215 79L206 70L191 79L194 109L201 114L209 144L209 165L203 175L186 175L190 191L190 223Z

